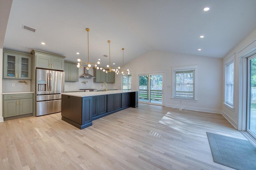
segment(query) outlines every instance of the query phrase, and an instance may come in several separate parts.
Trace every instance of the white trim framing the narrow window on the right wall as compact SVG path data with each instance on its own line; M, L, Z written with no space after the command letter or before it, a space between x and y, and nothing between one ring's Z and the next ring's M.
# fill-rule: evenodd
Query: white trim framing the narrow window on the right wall
M223 104L230 107L231 109L234 109L234 103L235 103L235 93L234 93L234 90L235 90L235 54L236 53L232 54L230 57L228 57L224 61L224 102L223 102ZM234 63L233 105L226 103L226 66L231 63Z

